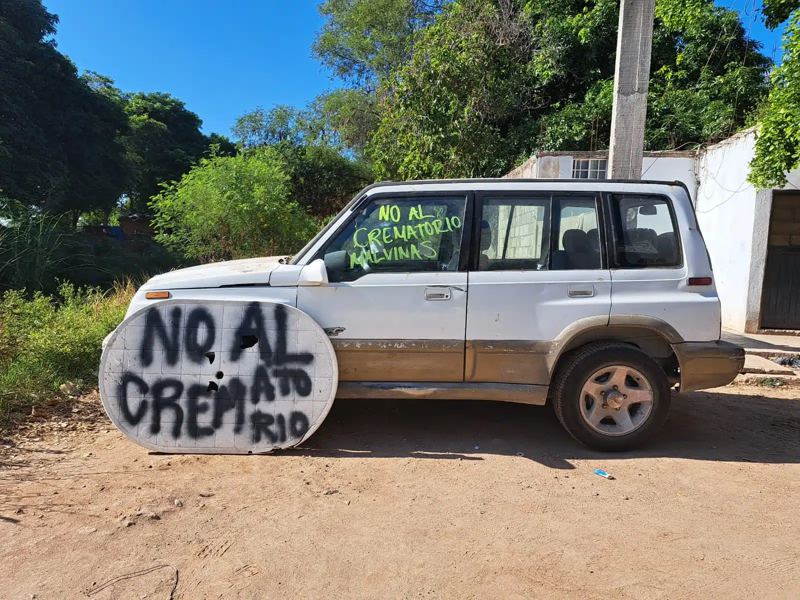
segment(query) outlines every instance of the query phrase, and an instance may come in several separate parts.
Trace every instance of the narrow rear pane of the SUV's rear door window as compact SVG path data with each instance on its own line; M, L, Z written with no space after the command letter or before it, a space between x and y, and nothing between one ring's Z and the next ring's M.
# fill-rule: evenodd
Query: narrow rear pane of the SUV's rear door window
M600 269L600 233L597 201L592 197L553 198L554 244L551 270Z

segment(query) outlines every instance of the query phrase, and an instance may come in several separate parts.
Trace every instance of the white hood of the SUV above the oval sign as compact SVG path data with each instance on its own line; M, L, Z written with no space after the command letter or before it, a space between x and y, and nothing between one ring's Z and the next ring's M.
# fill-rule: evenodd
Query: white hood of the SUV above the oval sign
M156 275L142 290L182 290L195 287L266 286L270 274L280 266L283 256L243 258L237 261L212 262Z

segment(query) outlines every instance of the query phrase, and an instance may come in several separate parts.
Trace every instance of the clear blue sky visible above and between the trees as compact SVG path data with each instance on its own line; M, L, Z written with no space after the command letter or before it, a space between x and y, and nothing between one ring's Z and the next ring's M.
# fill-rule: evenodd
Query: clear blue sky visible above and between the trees
M107 75L124 91L177 96L200 115L206 133L230 134L234 120L256 106L305 106L334 87L310 57L322 26L315 0L43 2L61 18L58 49L79 69ZM720 3L752 13L752 2L761 5ZM757 15L743 16L771 56L780 34Z

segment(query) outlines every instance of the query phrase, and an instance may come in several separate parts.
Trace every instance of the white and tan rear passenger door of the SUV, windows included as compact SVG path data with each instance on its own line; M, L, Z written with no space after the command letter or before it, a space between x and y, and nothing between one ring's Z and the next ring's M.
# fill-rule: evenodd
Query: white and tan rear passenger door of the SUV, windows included
M600 200L594 193L476 194L466 381L547 385L559 336L608 324Z

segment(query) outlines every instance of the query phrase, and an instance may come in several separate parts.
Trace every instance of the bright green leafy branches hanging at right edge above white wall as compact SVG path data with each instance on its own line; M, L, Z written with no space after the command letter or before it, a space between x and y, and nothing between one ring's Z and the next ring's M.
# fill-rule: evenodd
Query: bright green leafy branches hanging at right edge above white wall
M800 2L764 2L766 26L786 22L783 60L770 75L770 96L759 115L750 181L760 188L786 185L786 173L800 167Z

